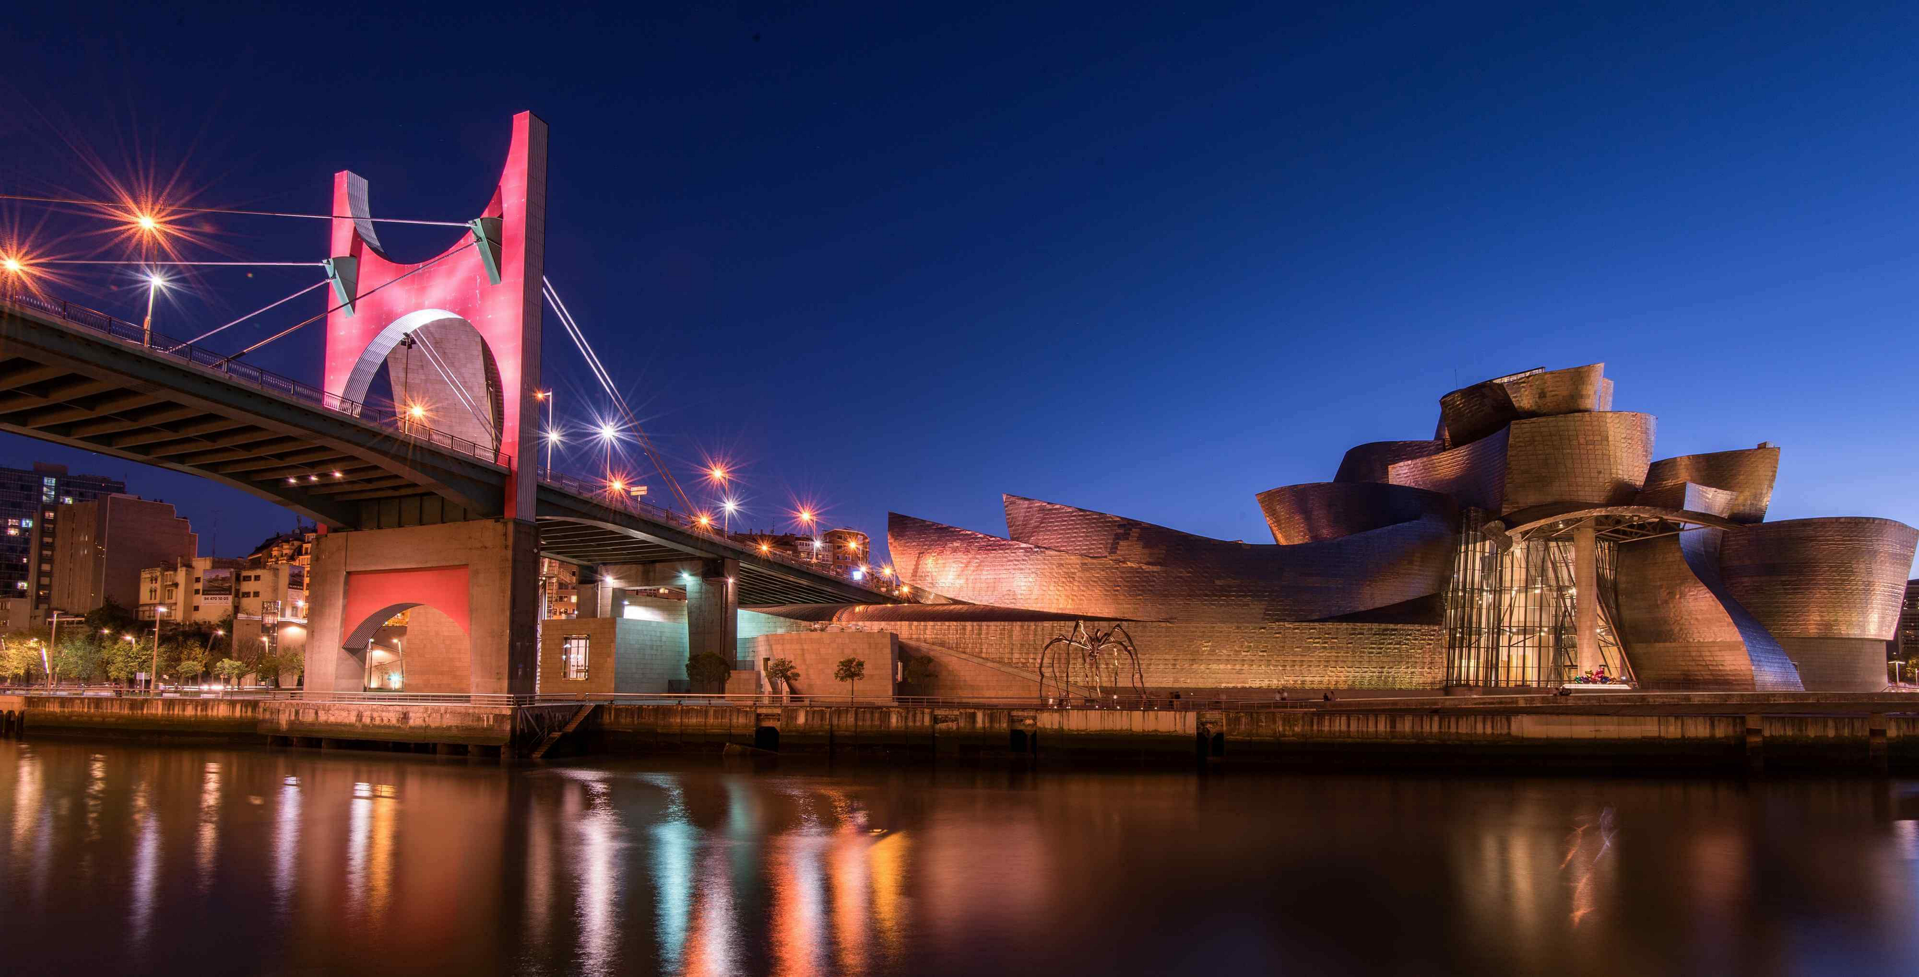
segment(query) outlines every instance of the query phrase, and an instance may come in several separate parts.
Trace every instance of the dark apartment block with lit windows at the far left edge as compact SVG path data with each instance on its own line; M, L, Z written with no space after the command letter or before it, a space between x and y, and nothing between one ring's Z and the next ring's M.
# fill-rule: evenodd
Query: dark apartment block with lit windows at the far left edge
M54 547L59 539L59 507L90 503L127 491L117 478L69 474L65 465L35 463L0 468L0 599L27 599L23 622L52 608Z

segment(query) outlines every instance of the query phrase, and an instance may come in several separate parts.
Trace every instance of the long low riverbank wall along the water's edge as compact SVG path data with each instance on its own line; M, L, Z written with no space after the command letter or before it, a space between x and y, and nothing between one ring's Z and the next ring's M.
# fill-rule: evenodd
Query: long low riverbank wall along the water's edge
M746 754L1023 764L1919 770L1919 701L1635 695L1313 703L1288 708L1017 708L779 703L380 704L0 697L25 735L132 735L484 756ZM564 729L562 729L564 727Z

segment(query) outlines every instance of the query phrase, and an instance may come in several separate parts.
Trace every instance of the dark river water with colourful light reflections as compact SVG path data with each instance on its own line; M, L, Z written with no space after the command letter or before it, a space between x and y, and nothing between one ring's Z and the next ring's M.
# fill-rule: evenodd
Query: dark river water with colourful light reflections
M8 973L1915 973L1919 781L0 743Z

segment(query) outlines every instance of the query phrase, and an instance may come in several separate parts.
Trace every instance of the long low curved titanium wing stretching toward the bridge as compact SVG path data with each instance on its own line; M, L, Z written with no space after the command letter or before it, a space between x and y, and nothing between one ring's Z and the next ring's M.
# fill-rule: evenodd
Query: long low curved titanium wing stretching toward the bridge
M1188 536L1169 562L1146 564L894 512L887 518L887 545L900 580L967 603L1092 618L1280 622L1437 593L1451 564L1453 530L1445 518L1420 518L1295 547Z

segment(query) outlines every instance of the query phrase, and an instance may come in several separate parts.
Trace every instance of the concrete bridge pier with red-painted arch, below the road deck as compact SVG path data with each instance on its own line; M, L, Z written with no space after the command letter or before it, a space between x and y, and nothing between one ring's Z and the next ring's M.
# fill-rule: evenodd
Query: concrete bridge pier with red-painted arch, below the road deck
M361 691L380 626L430 607L451 618L464 649L459 635L455 647L407 647L405 691L533 691L539 536L532 522L330 532L313 547L307 589L307 689Z

